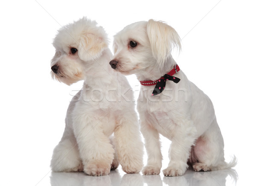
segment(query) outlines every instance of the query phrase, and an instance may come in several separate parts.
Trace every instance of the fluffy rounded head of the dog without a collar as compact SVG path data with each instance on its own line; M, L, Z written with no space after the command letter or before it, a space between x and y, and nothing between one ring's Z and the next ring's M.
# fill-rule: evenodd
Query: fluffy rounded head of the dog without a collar
M108 47L108 38L96 21L83 17L58 30L53 46L52 78L70 85L84 79L88 67Z

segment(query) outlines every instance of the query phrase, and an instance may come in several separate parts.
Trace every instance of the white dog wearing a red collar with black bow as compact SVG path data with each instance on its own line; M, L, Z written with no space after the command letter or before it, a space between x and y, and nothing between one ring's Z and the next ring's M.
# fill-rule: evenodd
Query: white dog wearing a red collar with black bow
M174 46L180 48L180 37L160 21L133 23L114 36L111 67L125 75L136 74L142 84L137 109L148 154L143 174L160 173L159 133L172 140L165 176L183 175L188 164L195 171L233 167L236 157L230 163L224 160L212 102L179 69L170 54Z

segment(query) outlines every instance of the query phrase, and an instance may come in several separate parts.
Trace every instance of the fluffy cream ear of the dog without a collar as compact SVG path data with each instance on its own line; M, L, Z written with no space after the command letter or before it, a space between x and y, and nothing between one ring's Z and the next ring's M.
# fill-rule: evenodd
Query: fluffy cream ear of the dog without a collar
M91 61L99 58L104 49L108 47L108 41L94 34L84 34L79 43L78 54L83 61Z

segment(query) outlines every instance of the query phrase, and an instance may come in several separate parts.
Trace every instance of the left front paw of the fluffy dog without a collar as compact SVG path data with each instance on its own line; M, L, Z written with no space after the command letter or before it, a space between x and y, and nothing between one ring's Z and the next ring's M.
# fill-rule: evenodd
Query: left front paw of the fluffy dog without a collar
M93 160L84 166L84 172L91 176L105 176L110 172L111 164L104 160Z

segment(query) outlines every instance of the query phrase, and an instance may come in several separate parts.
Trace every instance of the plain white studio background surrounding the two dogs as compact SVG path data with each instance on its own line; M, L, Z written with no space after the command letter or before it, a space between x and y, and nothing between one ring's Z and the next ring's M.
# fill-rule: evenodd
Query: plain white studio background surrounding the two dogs
M255 9L253 0L1 1L0 185L50 185L52 150L64 131L73 92L82 86L82 82L69 87L51 79L50 60L55 52L51 43L61 26L83 16L103 26L111 42L116 32L140 20L163 20L174 27L182 38L182 51L173 56L212 99L225 157L230 160L235 154L238 158L237 185L252 185L256 167ZM139 90L136 77L128 79ZM162 140L166 168L170 142ZM124 175L120 167L119 174ZM123 179L128 178L125 174ZM158 178L163 179L162 172Z

